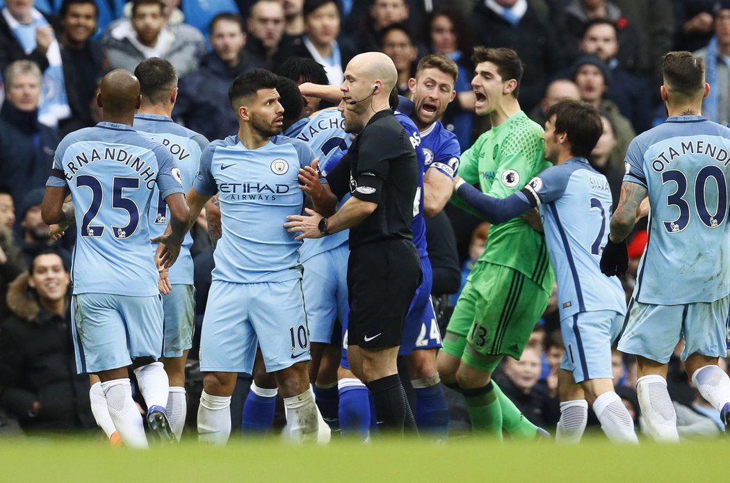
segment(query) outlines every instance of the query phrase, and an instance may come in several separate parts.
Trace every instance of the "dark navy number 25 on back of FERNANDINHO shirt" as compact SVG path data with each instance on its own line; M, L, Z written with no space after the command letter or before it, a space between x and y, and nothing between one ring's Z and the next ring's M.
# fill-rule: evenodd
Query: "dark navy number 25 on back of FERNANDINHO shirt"
M93 176L82 174L76 177L76 187L86 186L91 189L91 204L84 213L81 223L81 236L101 236L104 234L104 225L92 225L96 215L99 215L101 204L104 201L104 189L101 182ZM125 239L137 231L139 225L139 208L134 200L124 196L124 190L139 189L139 178L114 177L112 180L112 208L123 209L129 215L129 223L125 226L112 225L115 238Z

